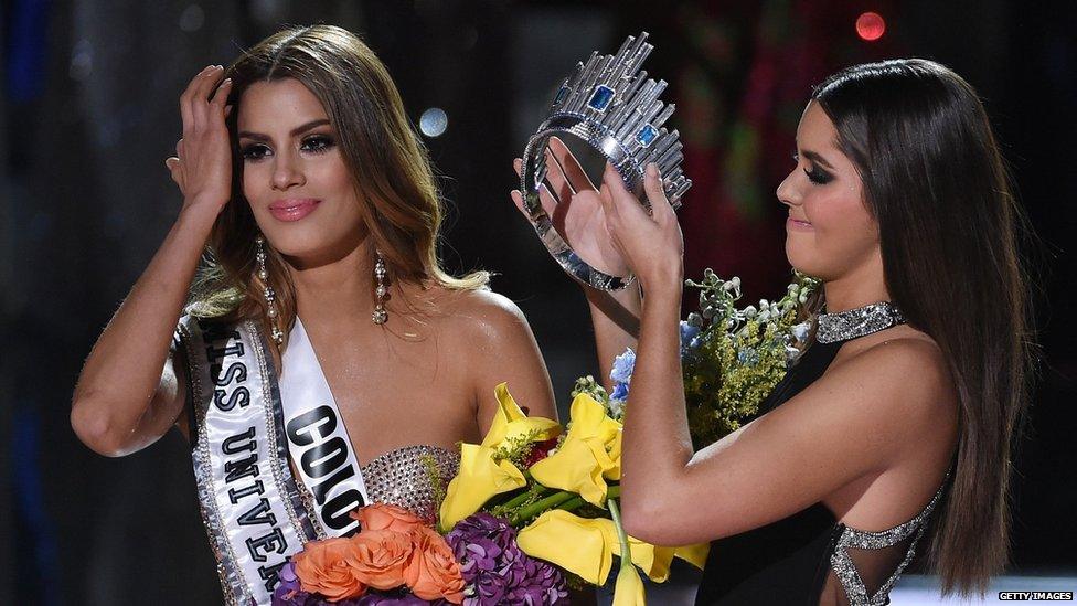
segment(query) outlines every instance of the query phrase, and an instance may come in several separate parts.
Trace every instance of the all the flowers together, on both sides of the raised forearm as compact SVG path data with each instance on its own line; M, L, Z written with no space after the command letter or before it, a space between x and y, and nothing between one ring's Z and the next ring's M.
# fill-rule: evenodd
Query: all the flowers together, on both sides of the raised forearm
M701 289L700 311L681 322L689 419L701 447L754 415L785 375L807 340L797 307L818 281L798 274L780 300L744 309L739 278L707 269L702 283L686 284ZM659 547L620 524L621 417L635 362L631 350L615 360L609 394L594 378L577 381L566 427L529 417L499 385L482 443L460 445L437 529L394 506L361 508L352 514L359 533L310 542L280 571L274 604L552 605L569 586L606 584L617 556L615 606L642 605L640 571L663 582L675 556L702 568L710 545Z

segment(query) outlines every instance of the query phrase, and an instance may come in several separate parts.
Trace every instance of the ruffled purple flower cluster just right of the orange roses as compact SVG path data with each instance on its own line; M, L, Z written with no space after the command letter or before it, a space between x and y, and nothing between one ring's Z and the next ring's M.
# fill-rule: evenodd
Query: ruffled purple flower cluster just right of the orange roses
M516 531L486 512L461 520L446 538L467 583L466 606L556 604L568 591L561 571L516 545Z

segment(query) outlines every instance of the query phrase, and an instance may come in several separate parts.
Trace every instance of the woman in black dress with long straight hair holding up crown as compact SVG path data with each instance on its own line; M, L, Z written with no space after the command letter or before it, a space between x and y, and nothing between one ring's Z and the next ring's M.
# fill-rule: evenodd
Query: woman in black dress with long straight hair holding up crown
M644 295L588 297L606 368L638 347L626 530L712 541L701 605L885 604L915 550L943 593L983 592L1007 555L1032 333L1022 213L983 106L930 61L857 65L815 88L796 149L778 200L789 263L822 280L813 342L759 416L693 453L683 245L660 176L648 170L648 214L610 168L596 191L553 147L566 168L552 184L575 192L569 242ZM578 227L596 216L604 233ZM614 310L639 316L638 341Z

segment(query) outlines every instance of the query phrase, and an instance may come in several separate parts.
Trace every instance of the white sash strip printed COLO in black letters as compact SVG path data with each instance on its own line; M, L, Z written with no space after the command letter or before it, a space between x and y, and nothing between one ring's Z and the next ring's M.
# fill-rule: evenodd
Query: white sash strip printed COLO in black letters
M288 336L280 373L280 400L291 460L314 498L326 533L342 536L359 529L348 513L369 502L363 474L302 322Z

